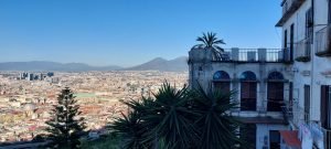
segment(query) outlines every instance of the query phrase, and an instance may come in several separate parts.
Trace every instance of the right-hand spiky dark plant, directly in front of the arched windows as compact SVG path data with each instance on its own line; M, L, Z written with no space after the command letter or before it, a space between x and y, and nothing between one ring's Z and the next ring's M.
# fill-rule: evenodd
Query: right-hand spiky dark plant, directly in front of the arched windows
M192 94L193 110L200 114L195 119L201 136L200 149L233 149L244 143L238 137L242 123L228 113L237 108L236 103L229 103L234 92L204 92L199 86Z

